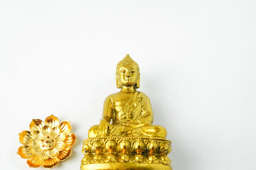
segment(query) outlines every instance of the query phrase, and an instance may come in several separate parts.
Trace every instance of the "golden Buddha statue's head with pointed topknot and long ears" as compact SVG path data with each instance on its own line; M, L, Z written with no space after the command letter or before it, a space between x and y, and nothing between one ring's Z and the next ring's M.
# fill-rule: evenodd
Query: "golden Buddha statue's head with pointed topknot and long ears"
M134 86L134 89L139 88L139 65L134 62L129 55L126 55L122 61L117 64L117 88L122 86Z

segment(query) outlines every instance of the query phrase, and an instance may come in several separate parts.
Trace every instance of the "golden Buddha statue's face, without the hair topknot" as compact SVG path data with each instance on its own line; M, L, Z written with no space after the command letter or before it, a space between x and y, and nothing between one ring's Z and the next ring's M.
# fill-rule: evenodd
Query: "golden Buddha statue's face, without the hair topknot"
M139 69L134 65L117 69L117 79L122 86L134 86L139 81Z

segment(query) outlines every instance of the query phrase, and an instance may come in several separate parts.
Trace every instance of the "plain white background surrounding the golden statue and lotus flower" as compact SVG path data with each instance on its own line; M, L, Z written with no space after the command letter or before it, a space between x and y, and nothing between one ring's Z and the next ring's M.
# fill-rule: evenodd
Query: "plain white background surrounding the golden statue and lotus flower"
M80 169L127 53L174 170L255 169L254 0L0 1L0 169L28 169L18 133L51 114L78 137L54 169Z

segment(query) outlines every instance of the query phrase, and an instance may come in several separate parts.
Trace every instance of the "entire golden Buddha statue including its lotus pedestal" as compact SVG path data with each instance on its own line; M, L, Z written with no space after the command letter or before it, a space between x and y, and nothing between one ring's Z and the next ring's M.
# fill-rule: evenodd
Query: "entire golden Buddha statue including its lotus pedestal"
M129 55L117 64L116 80L121 91L106 98L100 125L90 128L81 170L171 170L171 141L164 127L151 125L149 97L137 91L139 65Z

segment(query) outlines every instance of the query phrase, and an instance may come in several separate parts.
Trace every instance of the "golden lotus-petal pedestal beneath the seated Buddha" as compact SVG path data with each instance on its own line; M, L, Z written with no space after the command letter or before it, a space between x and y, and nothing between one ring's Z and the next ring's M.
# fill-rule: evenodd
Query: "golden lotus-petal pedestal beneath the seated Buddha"
M83 142L81 170L171 170L171 141L157 137L92 137Z

